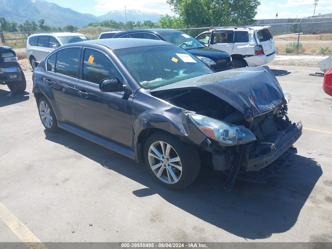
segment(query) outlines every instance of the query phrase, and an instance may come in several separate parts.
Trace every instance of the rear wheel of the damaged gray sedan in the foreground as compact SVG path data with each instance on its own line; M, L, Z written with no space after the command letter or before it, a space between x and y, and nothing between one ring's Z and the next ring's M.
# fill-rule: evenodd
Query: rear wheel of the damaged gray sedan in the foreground
M40 97L38 100L38 110L41 123L46 130L54 132L58 130L57 120L53 109L45 97Z

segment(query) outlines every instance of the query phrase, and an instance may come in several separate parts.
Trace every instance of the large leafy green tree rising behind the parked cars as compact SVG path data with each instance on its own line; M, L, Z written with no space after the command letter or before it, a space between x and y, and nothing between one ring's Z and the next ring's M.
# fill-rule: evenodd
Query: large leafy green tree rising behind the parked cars
M259 0L167 0L167 3L188 26L251 22L260 5Z

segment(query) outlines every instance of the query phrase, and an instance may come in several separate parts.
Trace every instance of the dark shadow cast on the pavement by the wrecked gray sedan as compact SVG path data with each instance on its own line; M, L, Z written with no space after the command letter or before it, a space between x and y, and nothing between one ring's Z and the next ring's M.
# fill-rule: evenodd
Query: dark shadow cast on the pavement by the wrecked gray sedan
M226 193L222 186L226 177L213 175L211 170L202 168L194 183L181 191L172 191L155 183L144 164L137 164L67 131L44 132L47 140L145 186L134 190L135 196L158 194L197 218L248 239L263 239L288 231L322 175L321 167L314 159L294 155L290 165L267 184L237 180L233 190Z

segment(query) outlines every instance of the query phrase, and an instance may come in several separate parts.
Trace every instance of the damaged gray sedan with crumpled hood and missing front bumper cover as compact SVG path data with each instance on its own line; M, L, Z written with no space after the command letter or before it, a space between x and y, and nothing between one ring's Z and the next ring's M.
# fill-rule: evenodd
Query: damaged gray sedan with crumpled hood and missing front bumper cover
M269 67L215 72L162 41L65 45L39 64L33 81L46 130L62 128L145 161L171 189L191 184L204 162L228 174L230 191L236 178L250 179L289 153L302 133Z

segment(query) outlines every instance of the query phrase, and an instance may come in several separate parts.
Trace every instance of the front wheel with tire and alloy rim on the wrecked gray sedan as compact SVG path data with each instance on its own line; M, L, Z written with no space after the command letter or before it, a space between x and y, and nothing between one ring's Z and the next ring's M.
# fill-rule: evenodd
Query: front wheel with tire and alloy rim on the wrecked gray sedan
M196 148L167 132L152 134L145 143L149 173L162 186L180 190L197 178L201 164Z

